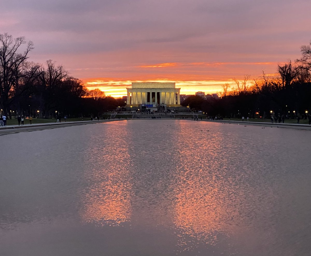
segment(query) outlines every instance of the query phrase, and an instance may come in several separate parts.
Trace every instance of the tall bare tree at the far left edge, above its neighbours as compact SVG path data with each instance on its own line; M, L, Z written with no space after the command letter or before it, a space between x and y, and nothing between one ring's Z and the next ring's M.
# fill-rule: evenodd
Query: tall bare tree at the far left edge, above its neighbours
M26 50L18 53L22 44L26 44ZM12 98L12 87L16 84L16 74L28 58L28 53L33 49L33 43L26 43L25 37L13 39L12 35L0 34L0 105L7 113Z

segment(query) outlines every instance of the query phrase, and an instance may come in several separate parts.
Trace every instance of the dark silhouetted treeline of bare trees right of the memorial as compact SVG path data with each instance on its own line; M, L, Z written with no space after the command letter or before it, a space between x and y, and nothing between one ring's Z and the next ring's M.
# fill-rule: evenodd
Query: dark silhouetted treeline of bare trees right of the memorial
M277 75L262 72L258 79L234 80L234 85L223 85L220 99L188 97L183 106L202 110L208 115L224 117L258 117L284 115L295 118L309 115L311 110L311 42L301 47L301 58L277 66ZM271 112L272 111L272 112Z

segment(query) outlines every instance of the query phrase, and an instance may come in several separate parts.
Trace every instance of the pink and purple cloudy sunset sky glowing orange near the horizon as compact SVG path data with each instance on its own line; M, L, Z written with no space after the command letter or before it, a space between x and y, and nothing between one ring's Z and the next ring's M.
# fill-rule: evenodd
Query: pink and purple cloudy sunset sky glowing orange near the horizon
M63 65L121 97L132 82L216 93L276 74L311 39L309 0L0 0L0 34L25 36L29 61Z

